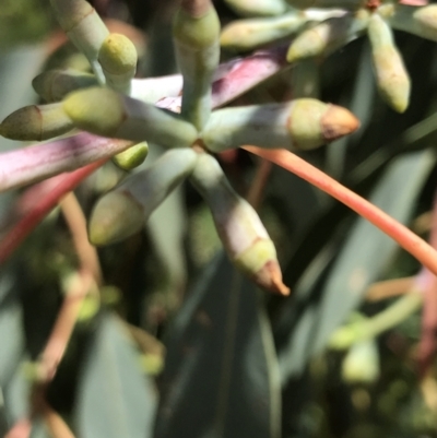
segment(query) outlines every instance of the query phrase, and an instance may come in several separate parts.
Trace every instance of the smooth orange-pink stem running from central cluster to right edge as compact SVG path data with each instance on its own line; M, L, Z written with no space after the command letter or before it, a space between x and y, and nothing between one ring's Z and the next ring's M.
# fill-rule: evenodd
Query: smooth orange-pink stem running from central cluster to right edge
M375 226L395 240L402 248L414 256L422 264L437 274L437 251L425 240L412 233L404 225L393 220L376 205L354 193L323 171L311 166L286 150L262 150L256 146L244 146L245 150L269 159L292 171L331 197L343 202L350 209L371 222Z

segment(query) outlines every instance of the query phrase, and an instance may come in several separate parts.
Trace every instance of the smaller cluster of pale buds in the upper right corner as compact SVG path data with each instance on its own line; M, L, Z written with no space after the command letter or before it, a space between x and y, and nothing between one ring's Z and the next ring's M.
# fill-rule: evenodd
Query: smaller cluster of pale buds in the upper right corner
M437 4L413 7L397 0L226 0L247 19L222 32L223 47L249 50L296 35L287 60L324 58L367 32L381 97L398 113L409 106L410 78L392 28L437 42Z

